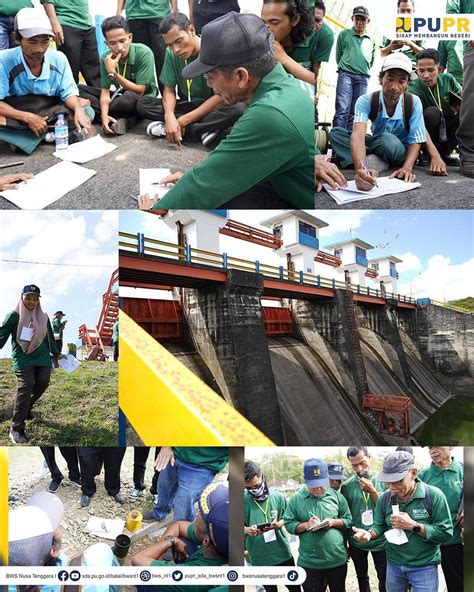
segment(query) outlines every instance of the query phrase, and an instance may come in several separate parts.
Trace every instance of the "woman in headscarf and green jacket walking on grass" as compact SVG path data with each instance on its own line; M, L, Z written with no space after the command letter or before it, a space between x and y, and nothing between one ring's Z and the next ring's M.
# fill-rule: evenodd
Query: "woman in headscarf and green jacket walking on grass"
M48 388L51 376L51 354L65 358L54 343L48 316L41 309L38 286L25 286L15 310L8 313L0 326L0 349L12 338L12 367L17 378L10 440L13 444L28 441L25 421L32 419L31 408Z

